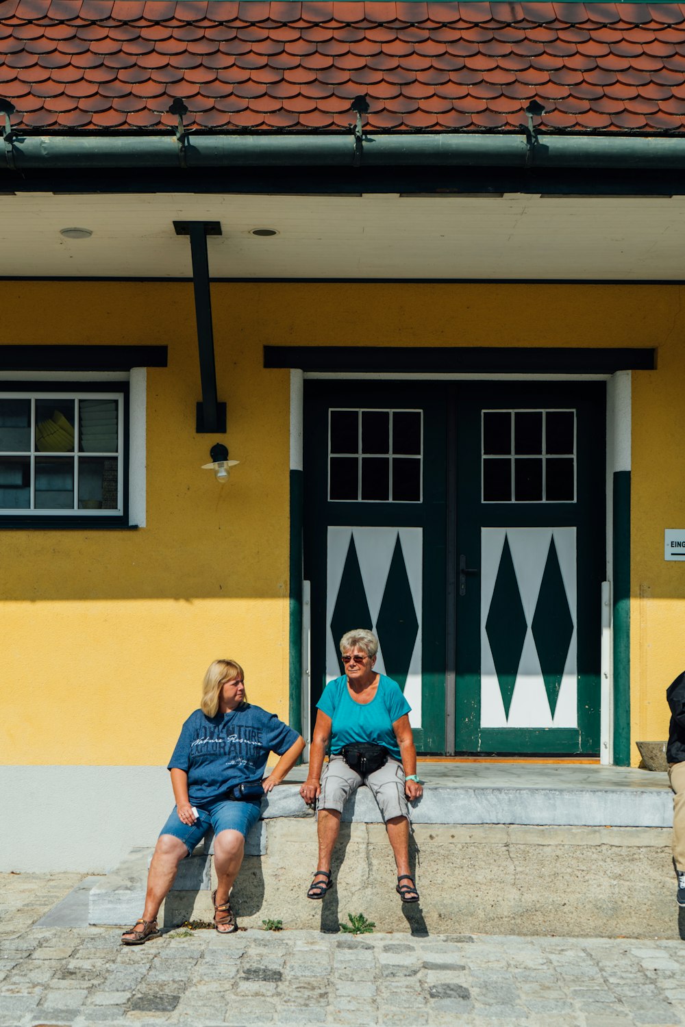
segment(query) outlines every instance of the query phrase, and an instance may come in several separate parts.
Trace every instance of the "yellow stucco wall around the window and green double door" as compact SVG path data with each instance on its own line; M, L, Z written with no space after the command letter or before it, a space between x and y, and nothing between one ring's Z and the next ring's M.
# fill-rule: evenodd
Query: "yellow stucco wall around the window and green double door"
M659 346L634 376L633 737L664 737L685 569L679 287L217 283L220 398L239 459L223 489L199 465L188 283L0 282L0 343L163 344L148 372L148 514L140 531L0 532L0 759L158 764L211 659L232 655L255 701L288 715L289 374L279 345Z

